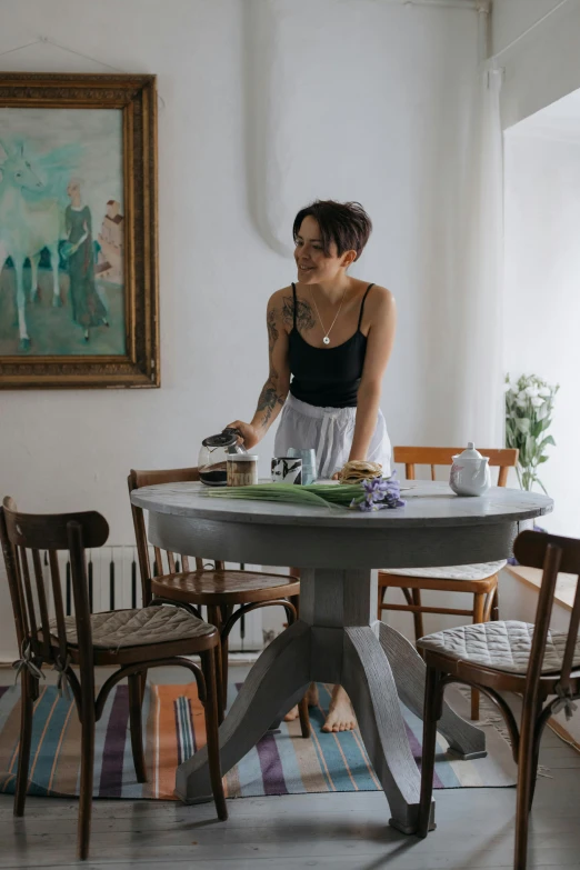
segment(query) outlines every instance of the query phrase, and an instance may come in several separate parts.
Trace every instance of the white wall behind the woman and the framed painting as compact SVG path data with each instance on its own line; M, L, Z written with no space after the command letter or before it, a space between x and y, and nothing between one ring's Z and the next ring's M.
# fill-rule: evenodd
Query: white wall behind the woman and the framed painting
M358 199L374 221L356 273L398 300L382 399L393 442L454 441L473 10L0 0L0 52L41 34L110 67L157 73L164 103L162 388L0 393L2 493L31 511L96 508L112 543L130 541L129 469L194 464L204 436L252 414L267 373L266 301L292 280L291 220L314 197ZM47 43L0 66L107 71ZM273 433L264 461L272 443Z

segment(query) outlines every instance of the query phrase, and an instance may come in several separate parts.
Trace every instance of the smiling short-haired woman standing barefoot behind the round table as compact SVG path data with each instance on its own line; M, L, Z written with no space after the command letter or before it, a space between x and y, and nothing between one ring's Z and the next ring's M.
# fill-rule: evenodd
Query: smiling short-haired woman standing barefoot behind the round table
M251 449L283 409L276 456L290 447L314 448L320 478L336 476L350 460L381 462L383 474L390 474L391 446L379 402L394 339L394 299L384 287L348 274L371 229L358 202L317 200L298 212L298 282L268 302L270 373L251 422L230 423ZM317 701L311 687L309 703ZM336 686L322 730L356 724L347 693Z

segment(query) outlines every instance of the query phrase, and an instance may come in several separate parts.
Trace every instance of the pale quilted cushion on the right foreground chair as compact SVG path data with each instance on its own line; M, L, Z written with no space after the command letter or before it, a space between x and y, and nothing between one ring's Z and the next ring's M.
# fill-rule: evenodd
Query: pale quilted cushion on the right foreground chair
M526 673L532 637L533 626L528 622L480 622L427 634L418 646L497 671ZM561 669L567 637L564 631L548 632L542 673L557 673ZM576 641L573 663L580 666L580 639Z

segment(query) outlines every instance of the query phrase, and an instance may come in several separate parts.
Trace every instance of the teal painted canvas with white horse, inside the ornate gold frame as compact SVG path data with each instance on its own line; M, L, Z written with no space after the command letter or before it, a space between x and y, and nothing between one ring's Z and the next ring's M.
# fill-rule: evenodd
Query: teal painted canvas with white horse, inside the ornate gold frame
M0 359L126 352L121 121L0 107Z

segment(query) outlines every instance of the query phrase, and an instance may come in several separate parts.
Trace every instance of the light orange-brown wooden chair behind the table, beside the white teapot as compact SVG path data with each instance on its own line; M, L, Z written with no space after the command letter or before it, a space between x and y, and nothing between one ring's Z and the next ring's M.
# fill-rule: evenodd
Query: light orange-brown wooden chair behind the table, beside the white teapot
M406 478L416 479L416 466L431 466L431 480L436 480L436 466L451 466L453 456L462 448L453 447L396 447L394 462L403 462ZM489 457L489 464L499 467L498 487L508 482L508 469L518 462L518 451L480 450ZM471 617L472 622L487 622L499 619L498 578L506 561L480 564L452 566L447 568L389 569L379 571L379 613L383 610L403 610L413 614L414 639L422 638L423 613L451 613ZM400 589L406 604L390 604L384 601L390 587ZM473 596L471 610L459 608L428 607L421 602L421 589L434 589L441 592L467 592ZM479 694L471 694L471 718L479 719Z

